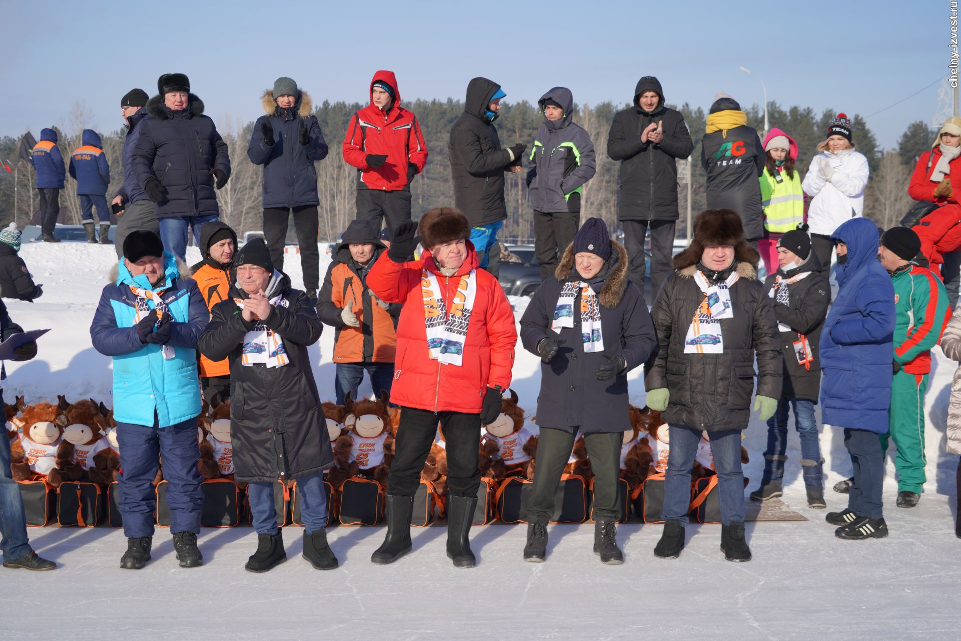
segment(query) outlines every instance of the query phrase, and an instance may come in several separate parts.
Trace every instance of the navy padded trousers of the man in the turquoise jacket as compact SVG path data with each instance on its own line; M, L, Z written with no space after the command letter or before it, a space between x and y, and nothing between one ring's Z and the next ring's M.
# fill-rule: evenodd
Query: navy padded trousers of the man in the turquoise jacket
M117 502L123 516L123 531L128 538L153 536L157 490L151 485L163 459L163 478L170 506L170 531L200 532L200 513L204 481L197 470L200 447L197 445L197 421L189 419L177 425L154 426L117 424L120 446L120 473L117 474Z

